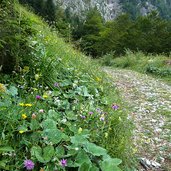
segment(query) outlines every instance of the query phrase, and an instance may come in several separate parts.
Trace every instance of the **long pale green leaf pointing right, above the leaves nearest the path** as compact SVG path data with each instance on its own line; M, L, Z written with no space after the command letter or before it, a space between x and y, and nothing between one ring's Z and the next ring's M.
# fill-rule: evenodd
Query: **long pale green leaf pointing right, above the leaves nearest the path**
M90 142L85 144L85 151L91 153L94 156L103 156L107 154L107 151L104 148Z

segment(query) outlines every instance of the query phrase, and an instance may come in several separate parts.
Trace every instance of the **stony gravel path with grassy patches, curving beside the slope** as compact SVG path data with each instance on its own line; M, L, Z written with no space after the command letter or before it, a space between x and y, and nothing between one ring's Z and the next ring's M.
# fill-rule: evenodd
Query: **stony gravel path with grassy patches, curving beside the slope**
M131 107L135 151L144 169L171 170L171 86L134 71L105 68Z

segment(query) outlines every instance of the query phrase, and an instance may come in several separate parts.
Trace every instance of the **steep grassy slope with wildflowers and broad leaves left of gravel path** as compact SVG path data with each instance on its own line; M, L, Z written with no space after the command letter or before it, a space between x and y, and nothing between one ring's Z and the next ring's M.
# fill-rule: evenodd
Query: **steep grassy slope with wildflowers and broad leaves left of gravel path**
M119 171L121 160L130 166L132 126L110 78L39 17L18 4L9 8L1 6L0 57L9 61L0 73L0 168Z

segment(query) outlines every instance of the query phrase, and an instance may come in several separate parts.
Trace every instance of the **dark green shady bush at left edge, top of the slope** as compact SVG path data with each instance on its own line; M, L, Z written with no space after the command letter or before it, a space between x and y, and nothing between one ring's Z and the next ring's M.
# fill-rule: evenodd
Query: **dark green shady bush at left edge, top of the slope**
M21 17L20 11L14 9L14 1L1 4L0 10L0 65L4 73L10 73L19 70L20 65L28 62L29 36L35 31L31 27L32 21Z

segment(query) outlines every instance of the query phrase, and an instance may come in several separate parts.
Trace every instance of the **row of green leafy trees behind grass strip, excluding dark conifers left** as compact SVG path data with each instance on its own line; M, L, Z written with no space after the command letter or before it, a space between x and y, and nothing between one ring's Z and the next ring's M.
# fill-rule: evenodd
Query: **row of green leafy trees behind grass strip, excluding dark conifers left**
M89 22L91 19L87 18L86 23ZM123 14L113 21L101 24L97 26L99 30L96 33L85 27L87 34L85 32L85 36L82 36L82 46L91 55L101 56L111 52L123 55L125 49L155 54L170 53L171 24L160 18L156 12L135 20ZM95 23L92 25L96 27Z

